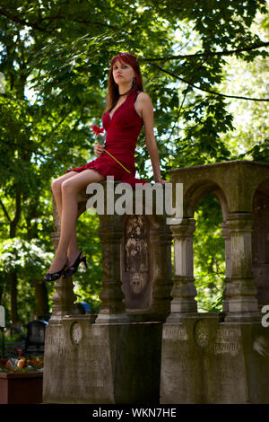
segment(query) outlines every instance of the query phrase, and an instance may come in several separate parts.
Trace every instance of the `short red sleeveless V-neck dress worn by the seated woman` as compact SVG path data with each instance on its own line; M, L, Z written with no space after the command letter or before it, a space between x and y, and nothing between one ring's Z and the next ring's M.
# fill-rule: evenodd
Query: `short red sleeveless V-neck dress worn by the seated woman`
M68 171L83 171L92 169L105 176L114 176L114 180L121 180L135 187L135 183L149 183L149 180L135 179L134 150L137 137L143 127L143 119L134 109L137 91L131 91L118 108L113 112L112 119L109 111L104 114L102 123L107 131L105 148L122 163L128 173L120 164L111 158L106 152L96 160L82 167L76 167Z

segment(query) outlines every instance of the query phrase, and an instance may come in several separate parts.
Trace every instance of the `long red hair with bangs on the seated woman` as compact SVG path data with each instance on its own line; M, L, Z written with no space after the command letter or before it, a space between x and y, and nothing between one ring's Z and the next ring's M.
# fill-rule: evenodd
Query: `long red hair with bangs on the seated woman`
M115 105L117 104L117 100L119 99L119 92L118 92L118 86L116 82L114 81L113 77L113 66L116 61L119 61L120 63L126 63L129 66L132 66L134 69L134 75L135 75L135 84L132 87L132 92L134 91L143 91L143 80L142 75L140 72L140 66L137 61L136 56L132 53L120 53L117 56L114 56L110 62L110 69L108 74L108 98L107 98L107 107L104 111L105 113L108 110L112 110Z

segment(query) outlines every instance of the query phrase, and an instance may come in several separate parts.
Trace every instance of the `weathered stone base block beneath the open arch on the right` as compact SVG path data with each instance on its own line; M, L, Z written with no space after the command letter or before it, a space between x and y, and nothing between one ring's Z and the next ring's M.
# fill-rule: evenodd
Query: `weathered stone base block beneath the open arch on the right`
M161 403L268 403L269 330L190 314L163 325ZM258 351L257 351L258 350ZM267 355L266 355L267 353Z

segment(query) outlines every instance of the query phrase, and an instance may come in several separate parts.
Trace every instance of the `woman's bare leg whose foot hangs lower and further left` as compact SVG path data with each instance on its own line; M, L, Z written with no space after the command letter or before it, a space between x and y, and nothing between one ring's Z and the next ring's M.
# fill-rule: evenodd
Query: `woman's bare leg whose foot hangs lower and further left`
M78 213L78 192L85 189L89 183L98 182L104 179L104 176L97 171L84 170L75 174L74 177L66 178L63 181L62 205L60 206L62 207L61 234L56 256L48 270L49 273L54 273L64 267L69 244L70 242L74 242L75 222Z

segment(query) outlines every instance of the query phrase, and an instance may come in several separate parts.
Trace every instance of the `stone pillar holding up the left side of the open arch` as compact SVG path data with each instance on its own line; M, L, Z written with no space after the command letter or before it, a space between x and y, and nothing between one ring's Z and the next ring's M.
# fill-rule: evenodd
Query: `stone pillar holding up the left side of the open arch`
M181 224L171 225L170 229L175 240L175 276L171 292L171 312L167 322L176 322L187 312L197 312L193 252L195 220L184 218Z

